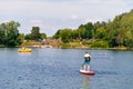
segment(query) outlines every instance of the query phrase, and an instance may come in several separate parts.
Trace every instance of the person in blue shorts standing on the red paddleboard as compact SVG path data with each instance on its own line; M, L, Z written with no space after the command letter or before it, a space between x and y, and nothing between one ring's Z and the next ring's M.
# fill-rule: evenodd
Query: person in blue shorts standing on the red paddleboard
M90 71L90 61L91 61L91 55L89 53L89 51L85 51L84 53L84 63L83 63L83 67L84 67L84 70L85 71Z

